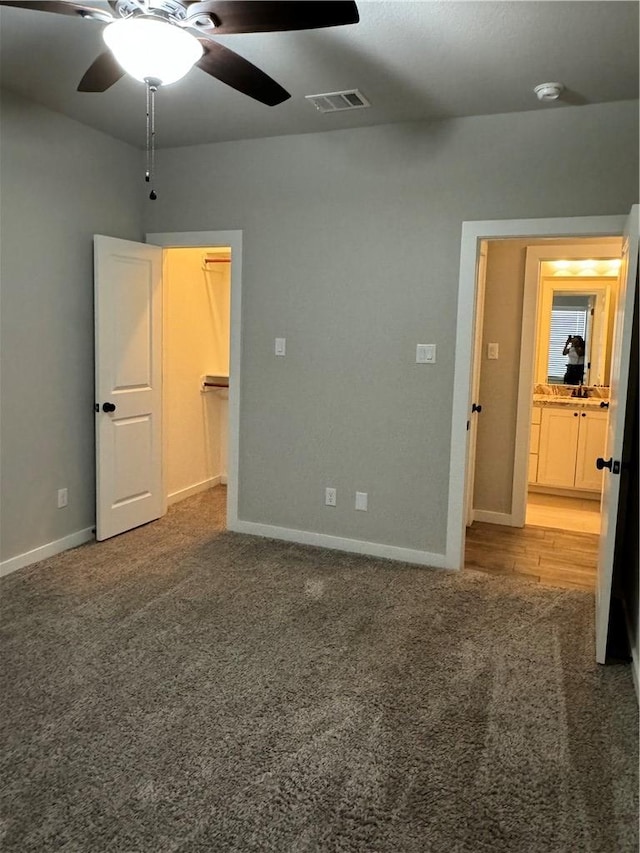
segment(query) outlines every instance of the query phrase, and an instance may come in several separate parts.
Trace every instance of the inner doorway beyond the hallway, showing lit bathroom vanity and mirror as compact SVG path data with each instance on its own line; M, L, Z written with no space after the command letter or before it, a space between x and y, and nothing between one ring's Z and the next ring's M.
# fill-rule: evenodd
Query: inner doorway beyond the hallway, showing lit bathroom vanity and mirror
M523 342L527 327L535 332L533 346L522 349L519 411L528 404L531 415L517 424L516 452L528 439L529 526L600 534L596 461L606 450L621 250L615 238L527 247Z

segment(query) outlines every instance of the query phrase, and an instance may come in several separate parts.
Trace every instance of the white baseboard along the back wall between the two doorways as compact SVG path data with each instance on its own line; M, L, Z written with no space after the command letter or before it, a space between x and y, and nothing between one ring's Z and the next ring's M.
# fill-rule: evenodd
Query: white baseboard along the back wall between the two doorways
M308 530L294 530L288 527L276 527L271 524L258 524L253 521L235 521L229 530L236 533L249 533L252 536L264 536L266 539L281 539L284 542L296 542L299 545L316 545L331 548L334 551L348 551L352 554L365 554L369 557L382 557L388 560L400 560L403 563L416 563L434 569L445 569L445 554L432 554L429 551L417 551L412 548L400 548L397 545L382 545L379 542L365 542L360 539L343 539L341 536L329 536L326 533L312 533Z

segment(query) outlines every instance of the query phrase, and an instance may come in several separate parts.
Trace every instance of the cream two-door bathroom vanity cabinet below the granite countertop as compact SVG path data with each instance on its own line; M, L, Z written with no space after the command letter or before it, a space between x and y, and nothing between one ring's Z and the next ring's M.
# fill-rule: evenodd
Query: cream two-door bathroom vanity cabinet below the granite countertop
M534 408L529 482L599 492L602 471L596 468L596 459L604 456L606 438L604 411L571 406Z

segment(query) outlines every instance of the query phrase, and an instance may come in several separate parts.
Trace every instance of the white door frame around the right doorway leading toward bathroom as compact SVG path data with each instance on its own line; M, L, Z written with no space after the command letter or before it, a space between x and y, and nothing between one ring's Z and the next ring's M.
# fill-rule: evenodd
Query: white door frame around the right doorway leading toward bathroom
M458 283L449 502L445 566L464 566L465 483L467 469L467 420L471 414L471 371L473 317L476 302L476 268L481 240L544 237L617 237L624 231L626 214L621 216L579 216L554 219L493 219L463 222Z

